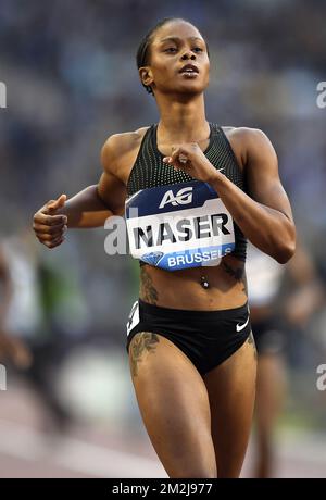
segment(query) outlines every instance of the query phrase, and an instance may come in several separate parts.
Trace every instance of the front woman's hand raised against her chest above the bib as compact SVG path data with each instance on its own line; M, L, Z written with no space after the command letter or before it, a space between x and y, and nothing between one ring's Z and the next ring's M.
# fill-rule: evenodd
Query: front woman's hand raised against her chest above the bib
M163 162L204 183L210 183L218 175L197 142L173 146L172 155L163 158Z

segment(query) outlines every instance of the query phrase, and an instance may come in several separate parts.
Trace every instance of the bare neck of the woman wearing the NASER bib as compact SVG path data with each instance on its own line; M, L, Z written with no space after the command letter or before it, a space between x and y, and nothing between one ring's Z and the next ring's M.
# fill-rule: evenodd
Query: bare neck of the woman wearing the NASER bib
M164 142L197 142L209 137L203 93L187 100L156 96L160 111L159 130Z

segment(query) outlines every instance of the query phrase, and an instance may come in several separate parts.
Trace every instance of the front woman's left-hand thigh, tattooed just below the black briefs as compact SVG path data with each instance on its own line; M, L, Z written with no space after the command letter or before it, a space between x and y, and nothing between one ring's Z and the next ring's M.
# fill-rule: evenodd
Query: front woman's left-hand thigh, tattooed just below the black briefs
M141 332L129 347L133 384L151 442L170 477L216 477L205 385L168 339Z

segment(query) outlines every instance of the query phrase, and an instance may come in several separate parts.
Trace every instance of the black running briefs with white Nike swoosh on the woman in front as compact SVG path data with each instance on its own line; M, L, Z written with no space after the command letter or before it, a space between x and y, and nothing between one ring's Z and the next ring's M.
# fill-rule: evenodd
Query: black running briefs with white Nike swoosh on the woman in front
M185 311L135 302L127 324L127 352L139 332L162 335L177 346L200 374L214 368L251 333L248 303L222 311Z

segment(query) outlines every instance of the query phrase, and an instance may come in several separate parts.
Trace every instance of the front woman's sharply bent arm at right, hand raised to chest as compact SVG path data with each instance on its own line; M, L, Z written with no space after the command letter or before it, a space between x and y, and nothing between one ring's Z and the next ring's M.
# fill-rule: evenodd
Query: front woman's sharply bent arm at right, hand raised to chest
M288 197L278 176L275 150L261 130L242 129L239 133L242 134L247 159L250 196L218 172L196 143L175 147L172 157L167 157L165 162L211 184L248 239L277 262L285 264L296 251L296 226Z

